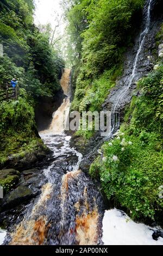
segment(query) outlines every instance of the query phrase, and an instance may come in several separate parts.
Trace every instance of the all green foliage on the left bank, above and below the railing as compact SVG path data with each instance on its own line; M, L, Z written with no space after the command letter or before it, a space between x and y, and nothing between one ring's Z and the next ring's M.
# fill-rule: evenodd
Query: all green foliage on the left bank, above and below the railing
M21 157L38 149L34 106L40 96L53 96L60 89L64 62L49 44L49 35L33 23L33 0L0 1L0 88L13 77L18 80L17 101L0 106L0 162L9 155Z

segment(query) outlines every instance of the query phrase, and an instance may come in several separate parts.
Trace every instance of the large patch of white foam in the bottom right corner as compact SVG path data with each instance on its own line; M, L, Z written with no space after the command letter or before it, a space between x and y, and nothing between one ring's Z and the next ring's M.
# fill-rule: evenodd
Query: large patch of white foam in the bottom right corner
M155 228L132 221L123 211L105 211L103 218L104 245L163 245L163 238L153 240Z

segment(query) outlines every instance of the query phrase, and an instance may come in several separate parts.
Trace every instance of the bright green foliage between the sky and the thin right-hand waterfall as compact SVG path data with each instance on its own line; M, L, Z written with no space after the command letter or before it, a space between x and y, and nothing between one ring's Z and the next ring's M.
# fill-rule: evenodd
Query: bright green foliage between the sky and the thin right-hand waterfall
M74 77L76 93L72 109L101 109L120 75L122 54L132 42L140 23L144 0L65 1L68 5L68 35L75 41L80 70ZM72 47L72 45L71 45Z

